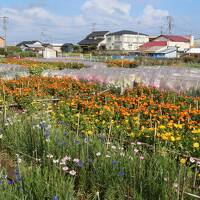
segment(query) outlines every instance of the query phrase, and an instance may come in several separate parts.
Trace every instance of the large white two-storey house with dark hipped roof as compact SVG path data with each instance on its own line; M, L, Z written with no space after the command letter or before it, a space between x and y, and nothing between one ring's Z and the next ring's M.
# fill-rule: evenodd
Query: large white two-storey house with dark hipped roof
M148 35L122 30L106 35L106 49L112 51L134 51L148 41Z

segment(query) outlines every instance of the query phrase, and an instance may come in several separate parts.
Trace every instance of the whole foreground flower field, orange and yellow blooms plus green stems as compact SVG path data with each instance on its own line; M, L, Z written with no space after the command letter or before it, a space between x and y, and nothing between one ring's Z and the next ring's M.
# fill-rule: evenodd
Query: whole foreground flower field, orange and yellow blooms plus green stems
M198 197L199 103L140 85L0 80L1 198Z

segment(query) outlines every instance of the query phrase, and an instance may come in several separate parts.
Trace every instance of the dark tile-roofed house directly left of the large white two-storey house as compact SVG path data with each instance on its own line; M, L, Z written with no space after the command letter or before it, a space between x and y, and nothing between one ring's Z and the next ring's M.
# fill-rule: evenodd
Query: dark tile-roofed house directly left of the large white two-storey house
M78 44L83 50L106 50L106 35L109 31L94 31Z

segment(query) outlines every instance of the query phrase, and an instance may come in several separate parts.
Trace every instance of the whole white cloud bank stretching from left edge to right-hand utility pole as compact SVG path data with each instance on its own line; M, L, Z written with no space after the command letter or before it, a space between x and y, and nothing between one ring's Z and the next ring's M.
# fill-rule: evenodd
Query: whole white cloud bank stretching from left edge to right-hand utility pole
M138 21L140 29L148 28L169 15L166 10L147 5L138 17L133 17L135 9L124 0L86 0L80 15L76 16L61 16L40 6L21 9L0 7L0 16L9 17L8 38L11 42L35 39L78 42L91 30L93 22L97 23L97 29L137 31Z

